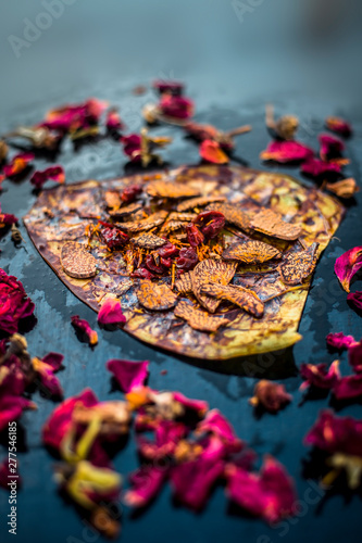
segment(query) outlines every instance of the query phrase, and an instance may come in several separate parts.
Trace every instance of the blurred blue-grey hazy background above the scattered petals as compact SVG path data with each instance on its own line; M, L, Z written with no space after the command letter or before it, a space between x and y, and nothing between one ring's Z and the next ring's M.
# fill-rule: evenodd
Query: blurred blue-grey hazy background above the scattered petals
M72 92L107 97L109 86L122 92L154 76L190 80L190 93L212 101L301 93L347 103L361 94L358 0L54 3L63 13L49 25L43 1L1 0L0 121L45 98L48 105ZM17 58L10 40L24 39L24 20L49 27Z

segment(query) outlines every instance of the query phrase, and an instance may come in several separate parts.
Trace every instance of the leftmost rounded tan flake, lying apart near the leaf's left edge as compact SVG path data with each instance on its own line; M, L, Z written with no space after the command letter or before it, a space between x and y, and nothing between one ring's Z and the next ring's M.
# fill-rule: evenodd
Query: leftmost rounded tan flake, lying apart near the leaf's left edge
M88 279L97 275L97 260L75 241L62 247L60 261L65 274L75 279Z

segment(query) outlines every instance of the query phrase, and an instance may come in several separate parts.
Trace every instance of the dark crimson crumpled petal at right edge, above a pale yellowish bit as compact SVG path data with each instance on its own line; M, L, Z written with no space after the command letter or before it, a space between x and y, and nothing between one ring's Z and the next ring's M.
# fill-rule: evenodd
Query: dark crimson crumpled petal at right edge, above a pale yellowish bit
M304 444L330 454L362 456L362 420L336 417L332 411L325 409L305 435Z

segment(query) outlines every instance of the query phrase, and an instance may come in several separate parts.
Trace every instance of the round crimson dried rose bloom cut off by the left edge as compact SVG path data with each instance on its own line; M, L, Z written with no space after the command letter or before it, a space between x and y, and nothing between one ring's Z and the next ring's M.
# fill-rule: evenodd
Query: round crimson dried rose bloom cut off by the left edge
M33 315L34 308L21 281L0 268L0 330L17 332L18 321Z

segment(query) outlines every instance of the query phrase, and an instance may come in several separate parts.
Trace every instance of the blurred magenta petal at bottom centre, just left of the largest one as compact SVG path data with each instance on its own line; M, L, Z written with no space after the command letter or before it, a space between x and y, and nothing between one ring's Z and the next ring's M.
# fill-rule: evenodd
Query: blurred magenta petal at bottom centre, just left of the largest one
M190 509L200 510L223 472L224 462L213 458L199 457L178 464L170 473L174 496Z

